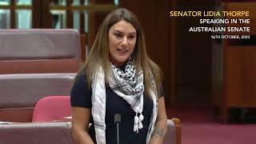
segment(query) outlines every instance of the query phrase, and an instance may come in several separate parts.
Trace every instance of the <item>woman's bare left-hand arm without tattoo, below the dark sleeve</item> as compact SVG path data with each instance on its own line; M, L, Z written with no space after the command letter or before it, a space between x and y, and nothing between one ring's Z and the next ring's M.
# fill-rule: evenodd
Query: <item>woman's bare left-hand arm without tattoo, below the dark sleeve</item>
M72 107L72 135L78 144L93 144L87 133L90 122L90 109Z

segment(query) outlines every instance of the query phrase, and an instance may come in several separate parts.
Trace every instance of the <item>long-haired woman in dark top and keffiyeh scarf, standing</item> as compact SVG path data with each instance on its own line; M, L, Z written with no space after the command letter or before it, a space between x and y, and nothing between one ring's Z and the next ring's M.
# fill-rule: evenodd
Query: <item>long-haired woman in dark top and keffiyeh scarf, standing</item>
M166 134L161 71L146 54L142 28L126 9L106 16L71 90L72 133L79 144L160 144ZM92 126L89 126L89 123Z

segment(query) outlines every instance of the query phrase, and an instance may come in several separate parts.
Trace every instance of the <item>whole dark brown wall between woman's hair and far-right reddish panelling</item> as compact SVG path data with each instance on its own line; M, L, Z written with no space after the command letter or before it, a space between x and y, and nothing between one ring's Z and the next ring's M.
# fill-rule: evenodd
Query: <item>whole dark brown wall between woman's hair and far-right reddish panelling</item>
M170 10L214 10L214 1L122 1L139 18L150 57L164 72L169 106L209 105L211 99L210 34L190 33L199 18L170 18Z

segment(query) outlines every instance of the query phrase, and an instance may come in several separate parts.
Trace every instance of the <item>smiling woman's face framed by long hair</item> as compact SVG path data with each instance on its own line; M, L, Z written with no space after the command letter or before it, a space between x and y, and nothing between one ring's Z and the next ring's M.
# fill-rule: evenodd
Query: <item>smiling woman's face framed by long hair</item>
M124 65L134 51L136 29L130 22L121 20L109 30L110 62L115 66Z

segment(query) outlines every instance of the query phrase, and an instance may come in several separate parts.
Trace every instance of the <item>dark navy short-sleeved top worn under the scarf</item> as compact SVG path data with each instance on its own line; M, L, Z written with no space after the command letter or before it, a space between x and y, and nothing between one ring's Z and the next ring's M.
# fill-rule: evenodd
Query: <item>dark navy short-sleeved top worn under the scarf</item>
M92 91L87 87L86 75L79 75L71 90L71 106L91 109L91 95ZM115 94L114 91L106 85L106 144L114 144L117 142L117 126L114 124L114 114L121 114L121 124L119 125L120 144L146 143L146 135L150 125L152 110L153 102L150 98L146 97L144 93L144 104L142 111L144 116L144 120L142 121L143 128L138 131L138 134L135 133L134 110L131 109L128 102ZM94 123L92 116L90 116L90 123ZM94 143L96 143L94 125L90 126L89 134Z

